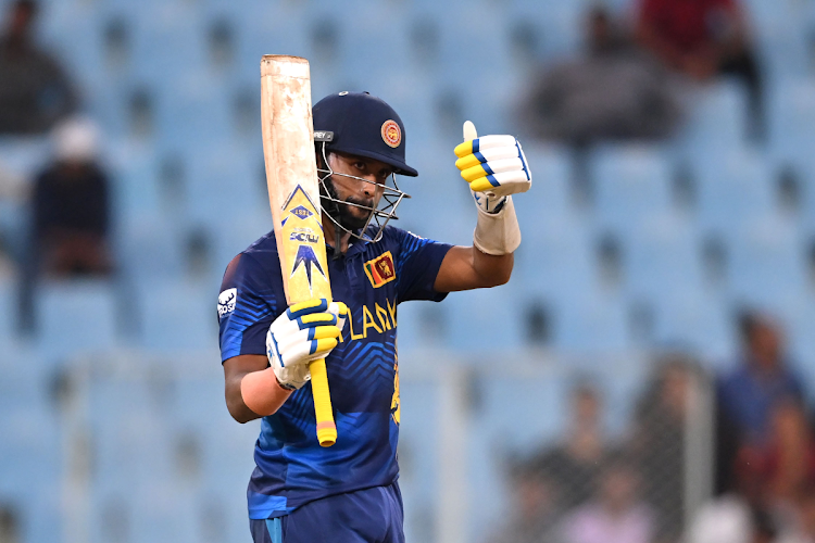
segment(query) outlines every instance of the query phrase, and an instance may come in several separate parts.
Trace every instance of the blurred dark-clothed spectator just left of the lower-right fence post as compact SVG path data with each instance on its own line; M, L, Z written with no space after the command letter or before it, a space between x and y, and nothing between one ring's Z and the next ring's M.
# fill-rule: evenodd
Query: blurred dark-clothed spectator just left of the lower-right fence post
M642 473L643 496L659 517L655 541L675 543L685 521L686 424L695 365L680 354L657 361L637 404L630 450Z

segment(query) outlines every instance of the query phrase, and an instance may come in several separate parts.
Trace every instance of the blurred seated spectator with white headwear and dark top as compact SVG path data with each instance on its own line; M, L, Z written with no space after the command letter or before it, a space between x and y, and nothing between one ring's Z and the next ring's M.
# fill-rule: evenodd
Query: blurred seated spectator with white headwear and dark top
M34 227L40 272L50 276L105 275L108 177L96 162L92 123L70 119L54 130L55 162L34 187Z

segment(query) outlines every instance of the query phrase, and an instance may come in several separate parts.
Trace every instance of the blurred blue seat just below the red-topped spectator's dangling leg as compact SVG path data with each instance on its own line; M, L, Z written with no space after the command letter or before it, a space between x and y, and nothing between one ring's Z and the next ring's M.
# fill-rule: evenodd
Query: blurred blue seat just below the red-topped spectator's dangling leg
M698 216L703 230L724 233L769 214L776 203L774 172L757 151L709 152L695 164Z

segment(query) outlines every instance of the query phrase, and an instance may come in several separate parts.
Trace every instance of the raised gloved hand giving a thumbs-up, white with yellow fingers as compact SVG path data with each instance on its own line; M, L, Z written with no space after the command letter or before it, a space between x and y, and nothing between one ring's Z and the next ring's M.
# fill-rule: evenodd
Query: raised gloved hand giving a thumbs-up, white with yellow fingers
M476 204L498 213L505 197L526 192L532 185L529 165L513 136L478 137L473 123L464 123L464 143L455 148L455 166L469 184Z

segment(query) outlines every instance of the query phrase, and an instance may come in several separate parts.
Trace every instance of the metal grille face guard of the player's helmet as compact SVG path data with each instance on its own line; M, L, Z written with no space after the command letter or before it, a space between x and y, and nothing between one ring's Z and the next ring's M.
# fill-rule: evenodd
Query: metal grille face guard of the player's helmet
M319 153L322 155L323 162L322 166L321 164L317 165L317 174L318 174L318 180L319 180L319 198L323 202L323 210L326 212L326 216L334 223L335 228L338 230L341 230L346 233L351 235L351 237L361 240L361 241L369 241L369 242L377 242L383 238L383 231L385 230L385 227L388 225L388 223L391 219L399 219L399 217L396 215L397 206L401 203L401 201L405 198L411 198L410 194L403 192L399 189L399 185L397 184L397 176L396 173L392 173L388 176L390 181L392 182L392 187L387 185L387 180L385 184L371 181L368 179L364 179L362 177L356 177L349 174L341 174L338 172L335 172L330 163L328 161L328 151L326 151L326 143L322 142L318 143ZM379 201L375 204L375 206L371 205L363 205L355 202L349 202L346 200L340 200L337 198L337 191L334 188L334 185L331 184L331 176L342 176L349 179L355 179L358 181L367 182L371 185L376 186L377 188L383 189L383 195L379 199ZM349 227L348 225L343 224L342 216L341 216L341 209L342 206L352 206L360 210L364 210L368 213L368 218L365 222L364 226L360 229L353 229Z

